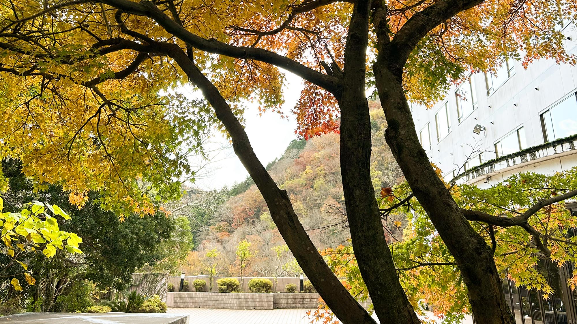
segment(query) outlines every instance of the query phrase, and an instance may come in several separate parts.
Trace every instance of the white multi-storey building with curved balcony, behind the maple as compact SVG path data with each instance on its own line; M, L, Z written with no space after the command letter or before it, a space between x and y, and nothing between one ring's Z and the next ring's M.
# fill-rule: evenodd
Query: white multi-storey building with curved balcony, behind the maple
M567 51L577 55L575 25L563 32ZM496 76L469 80L433 109L411 108L421 144L445 180L487 187L518 172L577 165L577 66L541 59L524 69L509 60Z

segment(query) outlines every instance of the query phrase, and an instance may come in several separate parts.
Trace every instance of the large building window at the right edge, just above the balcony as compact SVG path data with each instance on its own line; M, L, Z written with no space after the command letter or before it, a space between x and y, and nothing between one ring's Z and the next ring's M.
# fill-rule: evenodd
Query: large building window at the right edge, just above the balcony
M577 133L575 93L541 114L541 129L545 143Z

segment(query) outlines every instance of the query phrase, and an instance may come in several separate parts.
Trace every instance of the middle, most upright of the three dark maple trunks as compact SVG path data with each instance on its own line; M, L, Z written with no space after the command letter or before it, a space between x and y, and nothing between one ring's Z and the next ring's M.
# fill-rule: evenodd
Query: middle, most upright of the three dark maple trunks
M420 323L399 283L370 178L370 116L365 97L369 1L353 8L344 52L340 170L353 250L381 323Z

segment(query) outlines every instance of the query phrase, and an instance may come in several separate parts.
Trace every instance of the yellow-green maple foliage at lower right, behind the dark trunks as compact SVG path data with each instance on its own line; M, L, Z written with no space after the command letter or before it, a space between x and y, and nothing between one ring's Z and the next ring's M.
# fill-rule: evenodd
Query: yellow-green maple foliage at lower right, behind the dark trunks
M436 170L441 178L440 170ZM557 282L550 282L543 265L555 269L577 261L575 217L563 203L538 210L534 206L551 194L556 197L570 192L568 188L575 187L576 175L577 168L572 168L553 175L533 172L511 175L488 189L467 184L445 183L445 186L459 206L478 211L476 216L469 214L467 218L473 221L474 230L490 242L499 272L515 287L533 289L550 299L561 292L555 291ZM399 280L411 304L420 311L419 300L424 300L434 305L434 314L444 322L461 322L470 312L467 287L455 258L408 184L383 190L380 205L385 211L385 226L404 229L404 235L399 235L390 246ZM407 209L413 213L406 213ZM489 213L500 217L490 217ZM407 217L406 225L387 224L395 214ZM527 230L528 226L533 229ZM366 285L351 246L327 248L322 253L337 276L344 278L351 294L366 300ZM572 289L577 282L575 275L565 283ZM322 306L312 314L314 318L322 315L323 319L334 321Z

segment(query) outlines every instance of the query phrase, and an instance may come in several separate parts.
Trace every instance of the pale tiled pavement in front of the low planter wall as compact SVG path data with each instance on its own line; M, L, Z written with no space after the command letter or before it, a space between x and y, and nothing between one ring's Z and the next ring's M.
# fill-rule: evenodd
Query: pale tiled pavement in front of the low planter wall
M190 324L309 324L307 310L215 310L211 308L168 308L168 313L190 315ZM376 315L373 314L376 319ZM379 321L377 320L377 323ZM439 321L440 322L440 321ZM463 324L473 323L467 317Z

